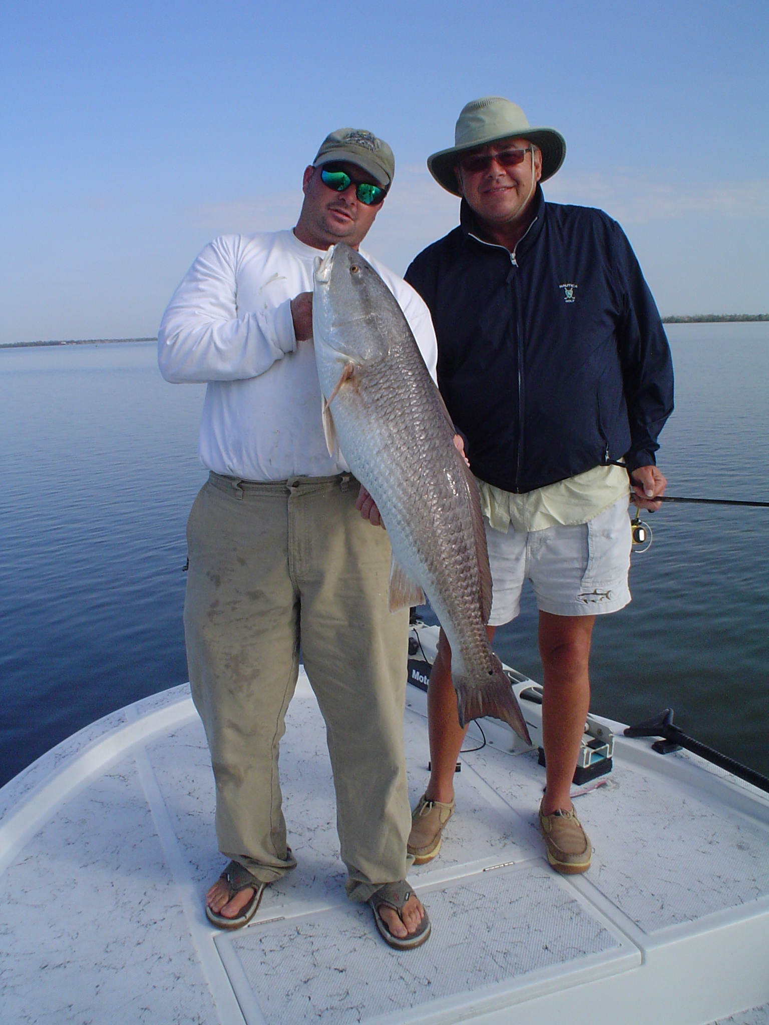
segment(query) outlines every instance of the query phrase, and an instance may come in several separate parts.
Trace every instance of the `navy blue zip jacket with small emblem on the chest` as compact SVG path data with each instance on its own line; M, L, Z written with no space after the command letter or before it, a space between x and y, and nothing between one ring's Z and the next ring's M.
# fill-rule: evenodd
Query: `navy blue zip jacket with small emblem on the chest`
M673 362L641 268L602 210L545 203L515 253L460 224L406 272L430 308L438 384L477 477L526 492L624 457L654 463Z

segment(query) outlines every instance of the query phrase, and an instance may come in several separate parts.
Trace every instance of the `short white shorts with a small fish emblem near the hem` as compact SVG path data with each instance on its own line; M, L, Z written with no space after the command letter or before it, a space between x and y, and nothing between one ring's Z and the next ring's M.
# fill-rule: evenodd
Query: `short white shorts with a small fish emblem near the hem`
M589 523L507 534L486 524L493 581L489 626L521 611L524 580L530 580L541 612L595 616L616 612L631 600L631 521L620 498Z

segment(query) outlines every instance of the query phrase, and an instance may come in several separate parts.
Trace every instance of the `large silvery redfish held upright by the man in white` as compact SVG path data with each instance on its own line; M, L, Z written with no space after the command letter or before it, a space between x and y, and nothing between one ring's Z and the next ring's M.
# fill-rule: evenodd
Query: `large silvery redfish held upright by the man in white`
M345 243L316 266L313 339L329 451L369 491L393 546L390 608L427 594L451 645L459 723L493 715L531 743L486 634L491 574L475 478L395 296Z

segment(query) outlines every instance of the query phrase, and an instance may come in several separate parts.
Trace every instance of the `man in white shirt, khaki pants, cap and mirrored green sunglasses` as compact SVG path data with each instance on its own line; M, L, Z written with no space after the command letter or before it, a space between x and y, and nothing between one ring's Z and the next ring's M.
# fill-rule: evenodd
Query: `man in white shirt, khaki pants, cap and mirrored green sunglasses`
M158 362L166 380L207 382L199 452L210 474L188 524L185 637L218 847L232 860L206 913L221 928L245 925L265 886L296 864L278 745L301 647L326 722L348 894L371 904L388 943L408 948L430 933L405 883L408 617L388 608L391 549L372 526L376 507L328 453L312 343L314 259L337 242L358 248L394 172L390 147L370 132L328 135L305 170L293 231L203 249L163 316ZM424 302L365 255L435 377Z

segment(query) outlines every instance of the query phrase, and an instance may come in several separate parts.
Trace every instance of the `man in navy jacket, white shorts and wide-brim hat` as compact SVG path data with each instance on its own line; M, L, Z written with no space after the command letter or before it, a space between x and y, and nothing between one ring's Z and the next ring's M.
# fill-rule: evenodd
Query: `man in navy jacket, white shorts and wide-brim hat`
M438 382L479 481L493 607L489 636L520 610L524 579L539 609L548 859L583 872L592 845L571 780L590 706L596 615L630 601L633 501L654 510L665 479L657 437L673 410L673 366L654 300L619 225L601 210L545 203L539 181L566 144L532 128L510 100L468 104L455 145L428 166L462 197L460 223L421 252L406 280L438 337ZM630 480L629 480L630 478ZM464 731L441 632L428 692L432 774L409 851L438 853L454 809Z

